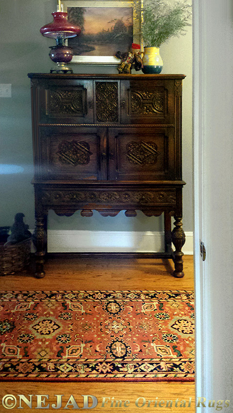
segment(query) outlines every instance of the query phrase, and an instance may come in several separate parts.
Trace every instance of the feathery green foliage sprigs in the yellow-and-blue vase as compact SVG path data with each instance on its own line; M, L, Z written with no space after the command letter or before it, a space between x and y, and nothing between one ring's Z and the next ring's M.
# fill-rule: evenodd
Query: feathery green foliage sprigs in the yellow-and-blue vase
M163 0L133 0L135 16L141 21L141 36L147 47L160 47L170 37L184 35L191 26L191 5L186 0L170 5Z

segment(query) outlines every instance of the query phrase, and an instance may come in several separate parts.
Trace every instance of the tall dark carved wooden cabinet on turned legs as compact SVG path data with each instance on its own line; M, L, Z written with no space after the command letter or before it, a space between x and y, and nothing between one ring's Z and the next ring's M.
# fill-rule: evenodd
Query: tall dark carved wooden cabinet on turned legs
M181 100L184 75L29 73L35 176L36 276L46 215L93 209L164 213L165 252L182 277ZM174 229L171 231L171 216ZM175 251L171 249L171 242ZM156 254L154 254L156 256Z

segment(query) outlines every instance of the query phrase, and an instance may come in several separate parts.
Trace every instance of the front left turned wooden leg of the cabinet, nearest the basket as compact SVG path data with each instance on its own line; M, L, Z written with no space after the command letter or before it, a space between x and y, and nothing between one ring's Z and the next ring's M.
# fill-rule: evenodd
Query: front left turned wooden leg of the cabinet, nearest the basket
M33 243L36 248L36 271L37 278L43 278L45 273L43 270L44 255L46 249L46 231L44 229L44 217L36 217L36 228L32 236Z

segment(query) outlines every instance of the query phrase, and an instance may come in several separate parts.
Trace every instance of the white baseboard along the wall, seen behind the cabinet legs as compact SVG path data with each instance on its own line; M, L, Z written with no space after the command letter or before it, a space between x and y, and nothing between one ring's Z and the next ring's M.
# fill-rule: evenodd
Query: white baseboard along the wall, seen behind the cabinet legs
M182 251L193 254L192 232ZM152 231L48 230L48 252L162 252L164 233Z

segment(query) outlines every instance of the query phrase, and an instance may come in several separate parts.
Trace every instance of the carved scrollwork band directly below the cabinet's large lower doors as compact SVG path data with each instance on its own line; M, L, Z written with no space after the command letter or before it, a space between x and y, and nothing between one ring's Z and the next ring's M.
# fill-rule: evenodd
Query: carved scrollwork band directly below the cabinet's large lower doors
M42 203L76 204L76 203L175 205L175 190L170 191L43 191Z

